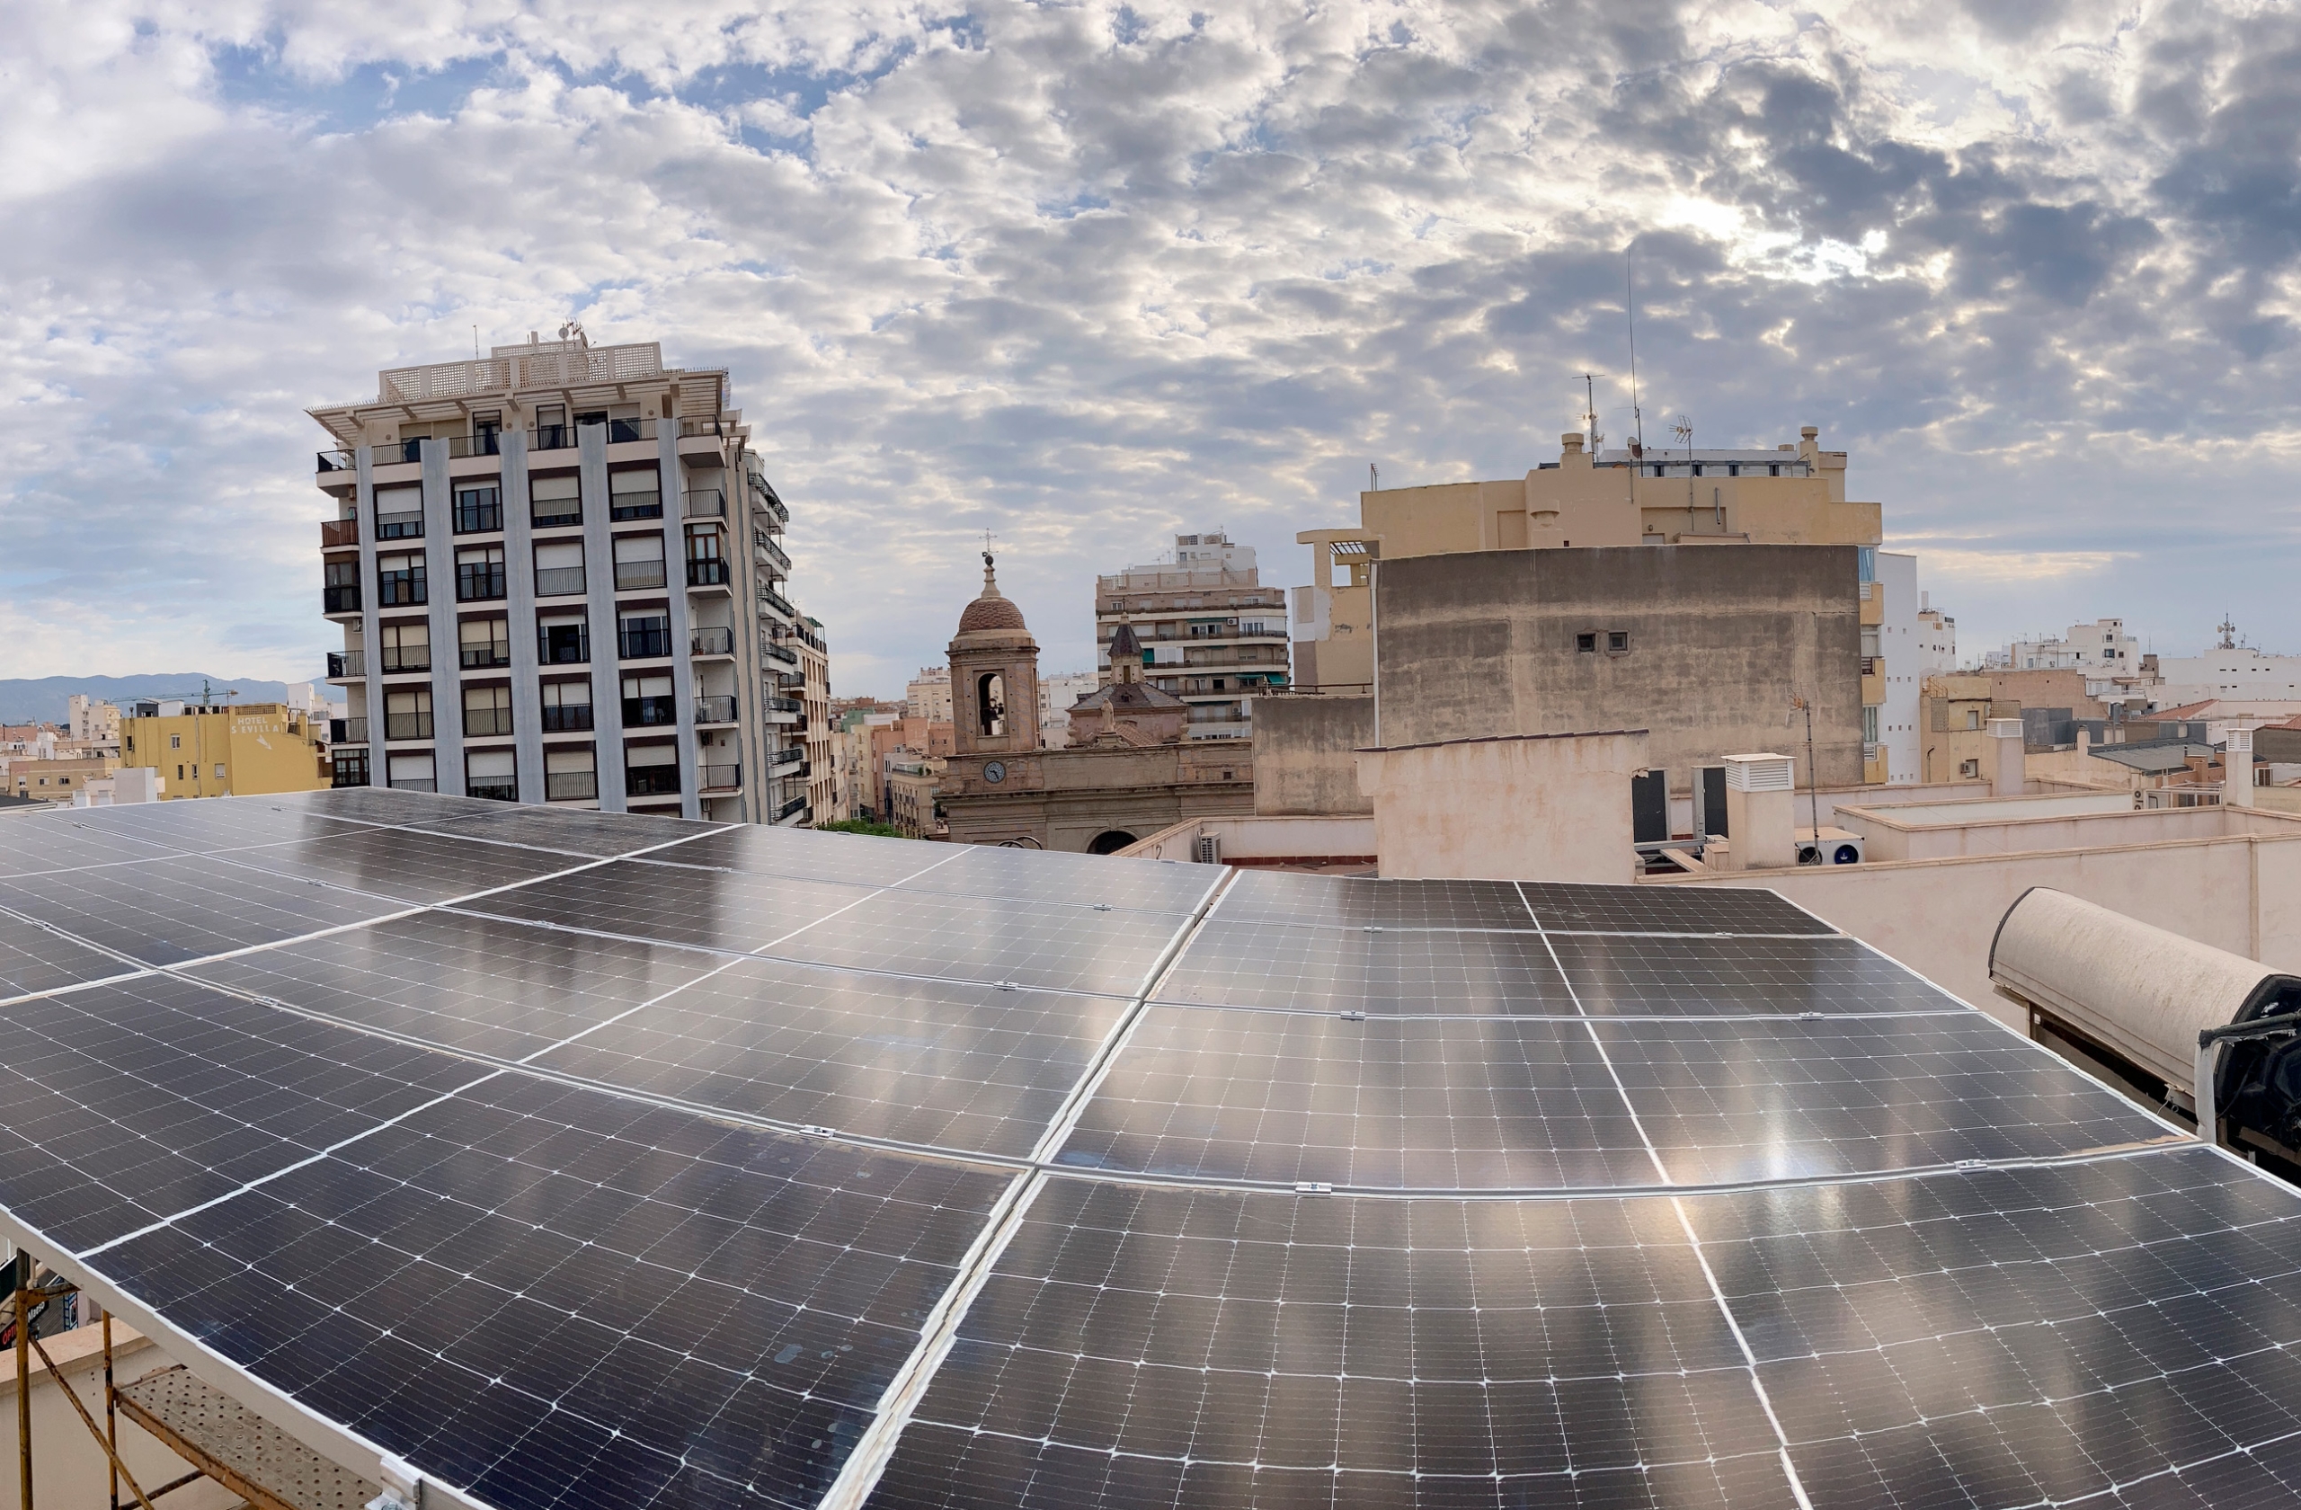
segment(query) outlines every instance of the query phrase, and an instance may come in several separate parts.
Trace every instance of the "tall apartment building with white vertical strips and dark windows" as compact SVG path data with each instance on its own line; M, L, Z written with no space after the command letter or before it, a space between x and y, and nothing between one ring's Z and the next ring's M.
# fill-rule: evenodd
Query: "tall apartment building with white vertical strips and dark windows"
M789 511L725 371L564 327L311 417L336 785L805 819Z

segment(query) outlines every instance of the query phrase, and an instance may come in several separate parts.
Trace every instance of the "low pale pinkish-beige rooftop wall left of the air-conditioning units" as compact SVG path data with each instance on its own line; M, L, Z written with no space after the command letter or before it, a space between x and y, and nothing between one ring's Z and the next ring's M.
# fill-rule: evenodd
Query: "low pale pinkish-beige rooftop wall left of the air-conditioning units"
M1362 750L1383 877L1627 884L1643 732L1521 734Z

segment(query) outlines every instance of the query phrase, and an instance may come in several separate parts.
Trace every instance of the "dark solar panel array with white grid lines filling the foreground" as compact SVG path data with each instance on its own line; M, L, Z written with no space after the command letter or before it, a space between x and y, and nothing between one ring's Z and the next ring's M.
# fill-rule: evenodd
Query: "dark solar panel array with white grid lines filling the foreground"
M2301 1197L1765 891L87 808L0 1027L0 1225L437 1503L2301 1489Z

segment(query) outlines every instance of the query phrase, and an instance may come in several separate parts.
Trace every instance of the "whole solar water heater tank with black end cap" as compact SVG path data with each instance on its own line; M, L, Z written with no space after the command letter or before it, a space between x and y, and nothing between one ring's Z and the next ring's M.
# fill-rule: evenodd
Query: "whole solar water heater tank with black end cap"
M2301 978L2094 902L2032 886L1997 923L1990 983L2057 1031L2108 1050L2168 1100L2200 1098L2301 1149ZM2232 1036L2257 1024L2253 1036ZM2071 1031L2073 1029L2073 1031ZM2200 1036L2227 1038L2200 1054ZM2211 1084L2200 1077L2211 1066Z

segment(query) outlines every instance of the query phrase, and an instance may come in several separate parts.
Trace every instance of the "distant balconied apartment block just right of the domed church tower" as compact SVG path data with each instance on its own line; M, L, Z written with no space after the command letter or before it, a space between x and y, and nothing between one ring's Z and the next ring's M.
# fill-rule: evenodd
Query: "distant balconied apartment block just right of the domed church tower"
M1095 672L1134 626L1144 681L1190 704L1192 739L1247 739L1254 695L1286 691L1286 589L1263 587L1254 548L1224 532L1174 536L1174 559L1095 578Z

